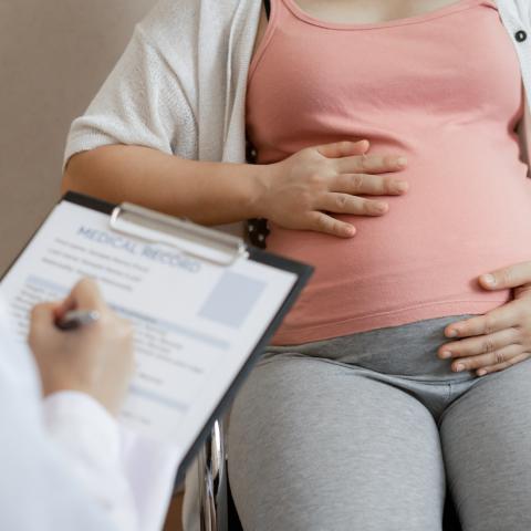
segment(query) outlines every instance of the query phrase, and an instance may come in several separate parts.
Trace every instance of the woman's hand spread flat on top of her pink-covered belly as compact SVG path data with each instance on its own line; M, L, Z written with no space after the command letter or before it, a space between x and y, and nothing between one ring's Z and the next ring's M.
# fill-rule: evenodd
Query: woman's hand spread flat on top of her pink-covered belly
M404 169L405 157L366 155L368 147L367 140L326 144L264 166L257 210L287 229L354 236L354 226L332 215L382 216L387 202L357 194L399 196L408 189L405 180L377 175Z

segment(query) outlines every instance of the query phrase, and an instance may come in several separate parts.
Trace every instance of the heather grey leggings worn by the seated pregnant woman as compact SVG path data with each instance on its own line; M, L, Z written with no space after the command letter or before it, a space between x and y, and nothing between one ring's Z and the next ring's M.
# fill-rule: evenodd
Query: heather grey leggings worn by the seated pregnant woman
M531 529L531 360L456 374L430 319L270 347L237 396L229 477L246 531Z

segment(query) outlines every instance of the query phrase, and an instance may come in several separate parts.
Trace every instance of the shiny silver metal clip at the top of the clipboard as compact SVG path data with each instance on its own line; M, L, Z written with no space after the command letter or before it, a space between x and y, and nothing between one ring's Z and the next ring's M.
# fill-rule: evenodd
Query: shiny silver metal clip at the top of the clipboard
M131 202L113 209L110 227L114 232L169 246L218 266L230 267L237 260L249 257L242 238Z

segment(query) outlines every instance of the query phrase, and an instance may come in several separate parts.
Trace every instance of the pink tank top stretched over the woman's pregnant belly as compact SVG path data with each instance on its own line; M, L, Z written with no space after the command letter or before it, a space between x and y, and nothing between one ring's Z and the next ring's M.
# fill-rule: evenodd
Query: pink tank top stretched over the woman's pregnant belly
M403 154L409 183L382 217L337 216L339 239L271 223L270 251L315 274L275 335L298 344L424 319L482 314L509 290L477 278L531 259L531 179L514 127L519 62L496 4L461 0L375 24L337 24L273 0L249 74L259 162L344 139Z

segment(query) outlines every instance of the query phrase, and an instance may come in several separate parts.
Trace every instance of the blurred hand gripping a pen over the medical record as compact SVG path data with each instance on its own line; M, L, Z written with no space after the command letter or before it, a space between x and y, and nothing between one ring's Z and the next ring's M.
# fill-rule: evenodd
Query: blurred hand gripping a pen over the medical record
M61 331L55 321L71 310L96 311L86 325ZM95 282L80 281L63 302L37 305L29 336L44 396L60 391L86 393L113 415L133 373L133 331L105 304Z

